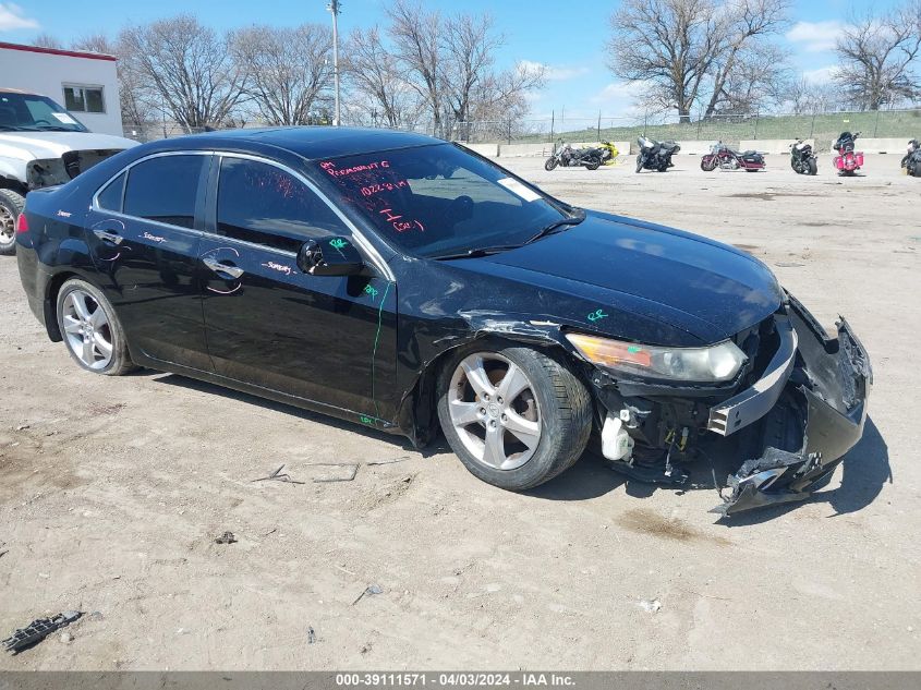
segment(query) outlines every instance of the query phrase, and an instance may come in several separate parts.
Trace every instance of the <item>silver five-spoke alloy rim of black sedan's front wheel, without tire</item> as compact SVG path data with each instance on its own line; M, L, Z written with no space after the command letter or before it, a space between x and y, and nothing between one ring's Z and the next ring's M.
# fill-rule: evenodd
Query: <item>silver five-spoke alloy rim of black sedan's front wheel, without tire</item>
M541 410L531 380L495 352L477 352L458 364L448 412L466 450L495 470L520 468L541 441Z

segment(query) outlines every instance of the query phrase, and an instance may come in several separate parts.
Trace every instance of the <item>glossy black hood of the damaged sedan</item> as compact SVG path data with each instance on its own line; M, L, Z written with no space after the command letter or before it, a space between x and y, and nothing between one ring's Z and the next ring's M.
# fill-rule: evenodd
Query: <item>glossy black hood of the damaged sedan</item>
M583 298L605 311L668 324L703 342L760 323L784 300L771 270L749 254L680 230L593 211L578 226L533 244L456 263L461 264ZM607 330L615 324L623 330L623 318L591 326ZM645 339L634 332L611 335Z

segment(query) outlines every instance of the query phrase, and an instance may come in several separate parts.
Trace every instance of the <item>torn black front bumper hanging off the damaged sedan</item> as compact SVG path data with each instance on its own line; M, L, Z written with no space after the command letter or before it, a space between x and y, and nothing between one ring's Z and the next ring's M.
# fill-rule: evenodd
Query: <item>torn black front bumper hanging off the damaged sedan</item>
M768 377L769 385L761 390L743 391L712 411L711 431L728 435L734 424L740 428L758 417L763 409L759 402L776 401L752 424L751 434L740 435L748 437L746 451L759 455L749 455L753 459L729 475L730 494L711 512L731 516L804 500L863 434L873 372L850 326L841 318L838 337L831 339L792 298L789 325L791 334L784 340L796 343L795 362L781 347L772 363L779 376Z

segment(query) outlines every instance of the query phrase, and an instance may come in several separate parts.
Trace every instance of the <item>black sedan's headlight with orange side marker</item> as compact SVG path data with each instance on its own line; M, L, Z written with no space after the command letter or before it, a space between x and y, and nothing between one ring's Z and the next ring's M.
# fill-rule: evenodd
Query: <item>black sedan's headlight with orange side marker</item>
M566 338L597 366L649 378L726 382L736 377L747 360L729 340L706 348L659 348L584 334L569 334Z

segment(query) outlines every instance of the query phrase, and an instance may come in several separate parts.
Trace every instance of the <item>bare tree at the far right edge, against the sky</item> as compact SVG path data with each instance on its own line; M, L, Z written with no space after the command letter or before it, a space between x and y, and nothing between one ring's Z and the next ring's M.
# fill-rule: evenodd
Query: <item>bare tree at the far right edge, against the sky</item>
M878 110L921 93L913 63L921 49L921 0L883 16L855 17L835 50L837 81L861 109Z

